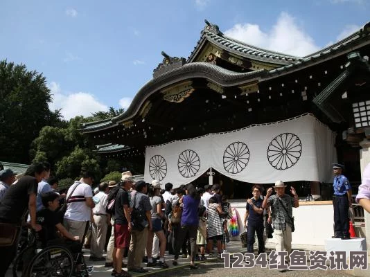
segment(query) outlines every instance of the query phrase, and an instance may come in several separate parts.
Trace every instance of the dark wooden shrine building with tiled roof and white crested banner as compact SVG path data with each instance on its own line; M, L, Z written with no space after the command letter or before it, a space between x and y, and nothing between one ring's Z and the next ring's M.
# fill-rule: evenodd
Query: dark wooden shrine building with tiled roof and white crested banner
M162 55L123 114L82 125L98 153L144 163L147 182L218 183L242 218L252 184L281 179L301 199L293 243L323 245L333 233L331 163L344 164L355 194L370 161L370 23L296 57L206 21L187 59Z

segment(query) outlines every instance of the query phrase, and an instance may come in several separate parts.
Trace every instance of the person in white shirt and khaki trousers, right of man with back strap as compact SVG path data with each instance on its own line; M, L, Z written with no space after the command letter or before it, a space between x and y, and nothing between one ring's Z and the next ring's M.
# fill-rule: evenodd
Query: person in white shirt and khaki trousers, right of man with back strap
M90 260L100 261L103 258L103 250L105 247L105 240L107 238L108 216L105 211L105 204L107 202L108 184L106 182L100 183L98 186L99 192L94 196L94 202L98 202L93 208L94 221L91 222L91 253Z

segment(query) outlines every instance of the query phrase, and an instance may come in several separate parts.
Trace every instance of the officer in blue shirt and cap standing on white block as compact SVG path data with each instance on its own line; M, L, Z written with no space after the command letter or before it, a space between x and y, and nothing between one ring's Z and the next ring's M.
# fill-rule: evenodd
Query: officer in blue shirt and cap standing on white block
M335 235L332 238L341 238L349 240L349 207L352 206L352 189L349 180L342 175L344 166L339 163L333 163L334 172L334 225Z

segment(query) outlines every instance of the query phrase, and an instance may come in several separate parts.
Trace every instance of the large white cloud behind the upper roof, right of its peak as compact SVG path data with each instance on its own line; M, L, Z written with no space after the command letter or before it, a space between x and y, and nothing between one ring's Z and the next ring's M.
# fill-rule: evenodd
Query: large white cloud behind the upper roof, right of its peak
M263 32L256 24L245 23L234 25L224 34L250 45L288 55L304 56L319 50L312 37L287 12L281 12L276 24L268 32Z

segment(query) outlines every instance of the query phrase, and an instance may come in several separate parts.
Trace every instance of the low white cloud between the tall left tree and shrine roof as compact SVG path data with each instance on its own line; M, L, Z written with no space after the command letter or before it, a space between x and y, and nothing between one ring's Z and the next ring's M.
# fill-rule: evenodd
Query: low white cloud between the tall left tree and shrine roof
M69 120L75 116L91 116L96 111L107 111L108 107L100 103L94 95L87 92L66 93L57 82L48 85L53 102L49 108L54 111L61 109L64 119Z

